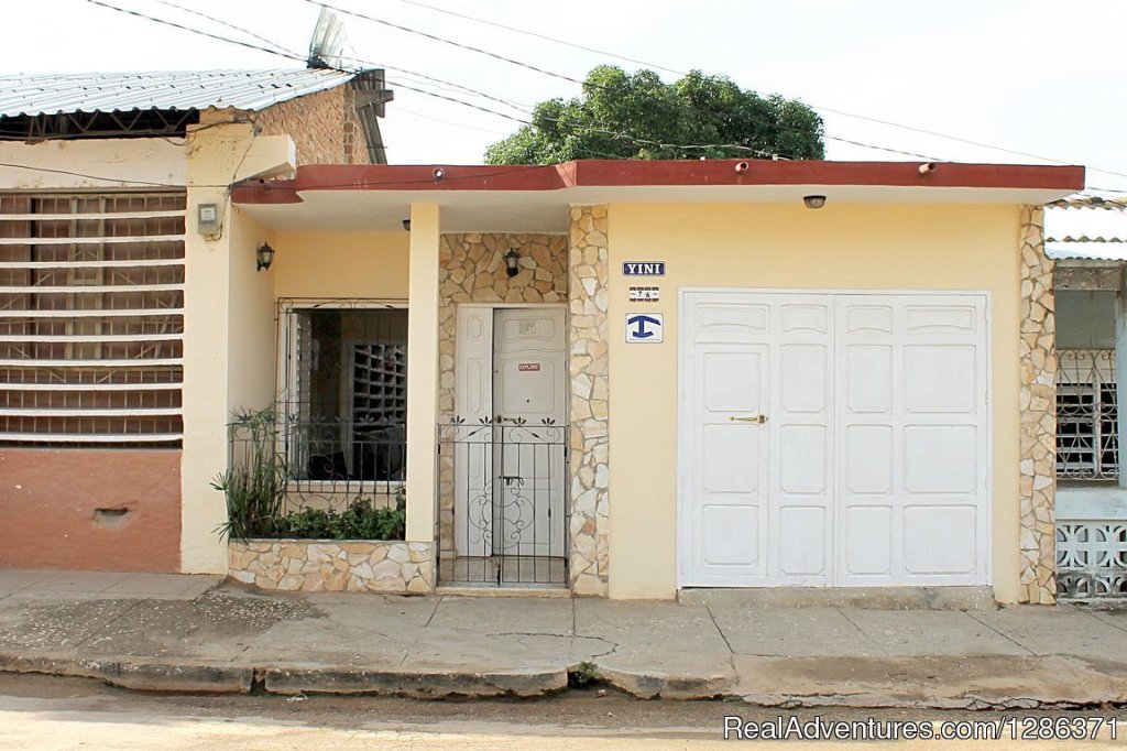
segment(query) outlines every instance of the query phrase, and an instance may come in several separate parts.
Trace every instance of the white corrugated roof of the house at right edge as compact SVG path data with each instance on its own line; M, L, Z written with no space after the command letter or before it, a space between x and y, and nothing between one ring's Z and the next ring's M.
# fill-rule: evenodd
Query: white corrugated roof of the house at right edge
M1127 201L1073 196L1046 205L1045 253L1056 260L1127 260Z

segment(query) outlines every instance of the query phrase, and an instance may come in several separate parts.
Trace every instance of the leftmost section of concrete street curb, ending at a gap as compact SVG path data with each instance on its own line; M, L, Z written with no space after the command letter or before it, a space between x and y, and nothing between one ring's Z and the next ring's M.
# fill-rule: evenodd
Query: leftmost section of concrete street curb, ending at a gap
M255 679L252 668L57 655L0 654L0 672L94 678L134 691L186 693L247 693Z

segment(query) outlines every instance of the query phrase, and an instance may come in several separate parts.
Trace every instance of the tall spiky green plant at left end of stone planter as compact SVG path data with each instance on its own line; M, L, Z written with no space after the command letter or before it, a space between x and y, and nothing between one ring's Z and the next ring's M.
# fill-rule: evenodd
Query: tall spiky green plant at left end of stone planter
M240 456L227 471L212 480L212 487L227 498L227 521L216 532L229 539L270 537L277 531L285 503L290 468L274 451L275 410L240 410L228 425Z

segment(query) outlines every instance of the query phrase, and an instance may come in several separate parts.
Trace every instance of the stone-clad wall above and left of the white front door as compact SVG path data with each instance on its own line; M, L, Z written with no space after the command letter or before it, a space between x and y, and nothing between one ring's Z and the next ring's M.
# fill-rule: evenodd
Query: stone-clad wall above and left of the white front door
M521 255L509 276L505 254ZM567 300L567 238L562 235L467 232L443 235L438 242L438 421L454 417L454 353L458 306L464 302L559 302ZM454 553L454 466L440 463L438 540L443 555Z

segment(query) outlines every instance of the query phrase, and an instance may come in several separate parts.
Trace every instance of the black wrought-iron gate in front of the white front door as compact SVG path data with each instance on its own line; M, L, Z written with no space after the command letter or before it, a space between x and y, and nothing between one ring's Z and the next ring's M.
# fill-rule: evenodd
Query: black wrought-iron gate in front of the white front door
M567 435L566 425L521 417L438 425L440 515L449 520L440 582L567 584Z

